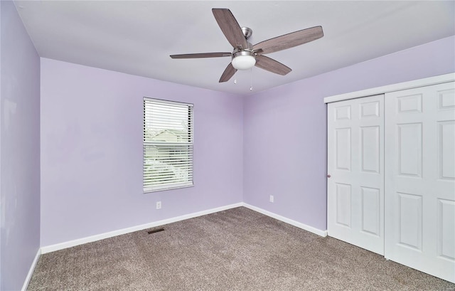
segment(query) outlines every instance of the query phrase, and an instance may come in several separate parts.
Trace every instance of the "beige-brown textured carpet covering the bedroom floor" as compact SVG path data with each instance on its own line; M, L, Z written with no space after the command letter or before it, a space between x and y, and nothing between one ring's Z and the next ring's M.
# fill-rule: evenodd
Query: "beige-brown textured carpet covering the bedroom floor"
M41 255L28 290L455 290L240 207Z

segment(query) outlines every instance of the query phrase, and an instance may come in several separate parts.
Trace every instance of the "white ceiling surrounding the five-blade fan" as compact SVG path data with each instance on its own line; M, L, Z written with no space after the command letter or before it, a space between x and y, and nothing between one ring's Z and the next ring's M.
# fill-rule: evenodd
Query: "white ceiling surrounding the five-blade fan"
M247 94L455 35L455 1L15 1L43 58L210 90ZM230 52L212 8L252 28L252 44L322 26L323 38L269 57L292 68L259 68L218 83L230 58L171 54ZM237 84L234 83L237 80Z

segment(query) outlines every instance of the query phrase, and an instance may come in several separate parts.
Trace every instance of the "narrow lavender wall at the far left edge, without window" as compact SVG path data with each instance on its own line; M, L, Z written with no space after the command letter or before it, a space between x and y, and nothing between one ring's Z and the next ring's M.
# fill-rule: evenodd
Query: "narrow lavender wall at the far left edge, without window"
M1 7L1 290L20 290L40 247L40 59L11 1Z

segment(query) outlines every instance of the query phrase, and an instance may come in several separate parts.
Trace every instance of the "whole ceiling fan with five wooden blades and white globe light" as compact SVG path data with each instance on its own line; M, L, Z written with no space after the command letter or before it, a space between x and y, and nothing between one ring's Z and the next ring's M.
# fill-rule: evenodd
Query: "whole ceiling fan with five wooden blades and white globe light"
M218 22L221 31L223 31L229 43L234 47L232 53L187 53L183 55L171 55L171 58L218 58L231 57L232 62L221 75L220 83L228 81L237 72L237 70L247 70L253 66L268 70L269 72L279 75L286 75L291 72L291 68L277 62L272 58L265 56L267 53L282 51L294 46L300 46L310 41L315 41L323 37L321 26L294 31L293 33L270 38L254 46L247 40L252 35L251 28L240 28L239 23L235 20L232 12L225 8L213 8L213 16Z

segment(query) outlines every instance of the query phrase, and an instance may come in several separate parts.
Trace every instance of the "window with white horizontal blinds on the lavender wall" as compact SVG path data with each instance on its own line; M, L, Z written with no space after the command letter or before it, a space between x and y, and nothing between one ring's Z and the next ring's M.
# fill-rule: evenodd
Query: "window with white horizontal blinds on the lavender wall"
M193 186L193 105L144 97L144 192Z

